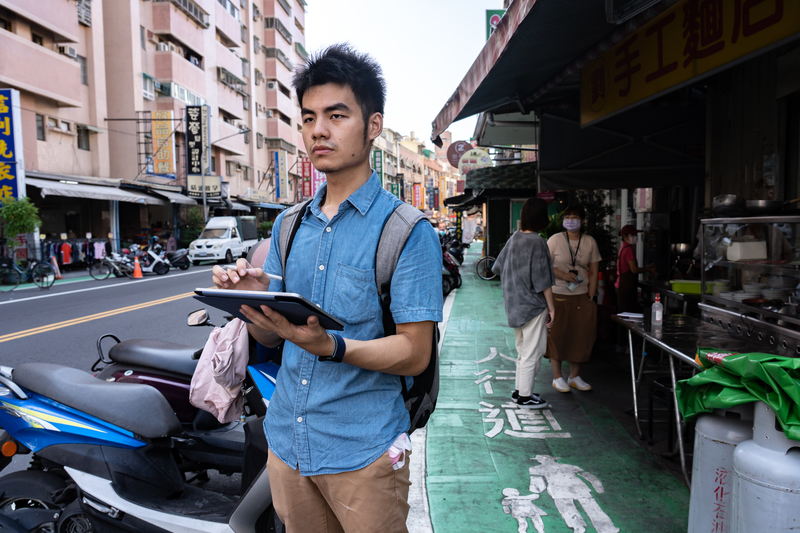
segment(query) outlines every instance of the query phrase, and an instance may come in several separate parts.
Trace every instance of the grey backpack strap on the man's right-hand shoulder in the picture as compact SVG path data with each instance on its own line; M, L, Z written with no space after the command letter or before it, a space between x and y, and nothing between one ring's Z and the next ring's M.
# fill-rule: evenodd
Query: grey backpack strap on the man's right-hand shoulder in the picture
M403 253L411 231L417 222L425 219L422 211L404 202L398 205L383 223L383 230L375 252L375 284L378 286L378 294L382 299L384 292L389 289L394 269L397 267L400 254Z

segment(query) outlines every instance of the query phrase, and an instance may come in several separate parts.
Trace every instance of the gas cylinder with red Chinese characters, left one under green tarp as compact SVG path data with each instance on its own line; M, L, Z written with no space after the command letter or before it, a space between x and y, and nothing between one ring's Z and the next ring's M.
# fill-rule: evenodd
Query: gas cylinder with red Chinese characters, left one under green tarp
M694 433L688 533L728 533L733 451L740 442L753 438L753 404L700 415Z

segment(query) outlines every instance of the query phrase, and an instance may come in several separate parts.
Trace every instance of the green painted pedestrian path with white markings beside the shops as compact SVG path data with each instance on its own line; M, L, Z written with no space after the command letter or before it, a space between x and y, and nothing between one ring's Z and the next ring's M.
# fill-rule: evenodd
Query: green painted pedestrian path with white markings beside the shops
M434 532L685 532L688 489L594 392L555 391L544 359L534 391L550 408L511 403L514 331L499 280L475 273L479 257L478 246L468 250L427 426Z

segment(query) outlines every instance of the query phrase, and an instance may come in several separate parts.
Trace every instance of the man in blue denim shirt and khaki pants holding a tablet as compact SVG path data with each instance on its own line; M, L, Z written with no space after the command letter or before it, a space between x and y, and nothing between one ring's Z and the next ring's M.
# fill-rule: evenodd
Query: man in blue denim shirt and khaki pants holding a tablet
M285 272L275 245L263 269L244 259L215 266L214 284L297 293L344 323L329 334L316 316L296 326L265 306L241 309L260 343L286 341L265 430L275 510L288 531L406 531L409 415L398 376L420 374L430 360L442 319L439 240L430 224L411 232L391 283L397 333L385 337L375 253L401 201L369 164L383 130L380 66L334 45L297 71L294 87L306 150L327 183L300 214Z

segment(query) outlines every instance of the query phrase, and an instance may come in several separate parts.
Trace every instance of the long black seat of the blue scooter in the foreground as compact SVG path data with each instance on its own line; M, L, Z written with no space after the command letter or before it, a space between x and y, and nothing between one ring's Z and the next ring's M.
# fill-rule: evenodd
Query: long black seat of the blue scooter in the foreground
M146 439L182 432L172 407L149 385L109 383L77 368L49 363L21 364L12 376L22 388Z

